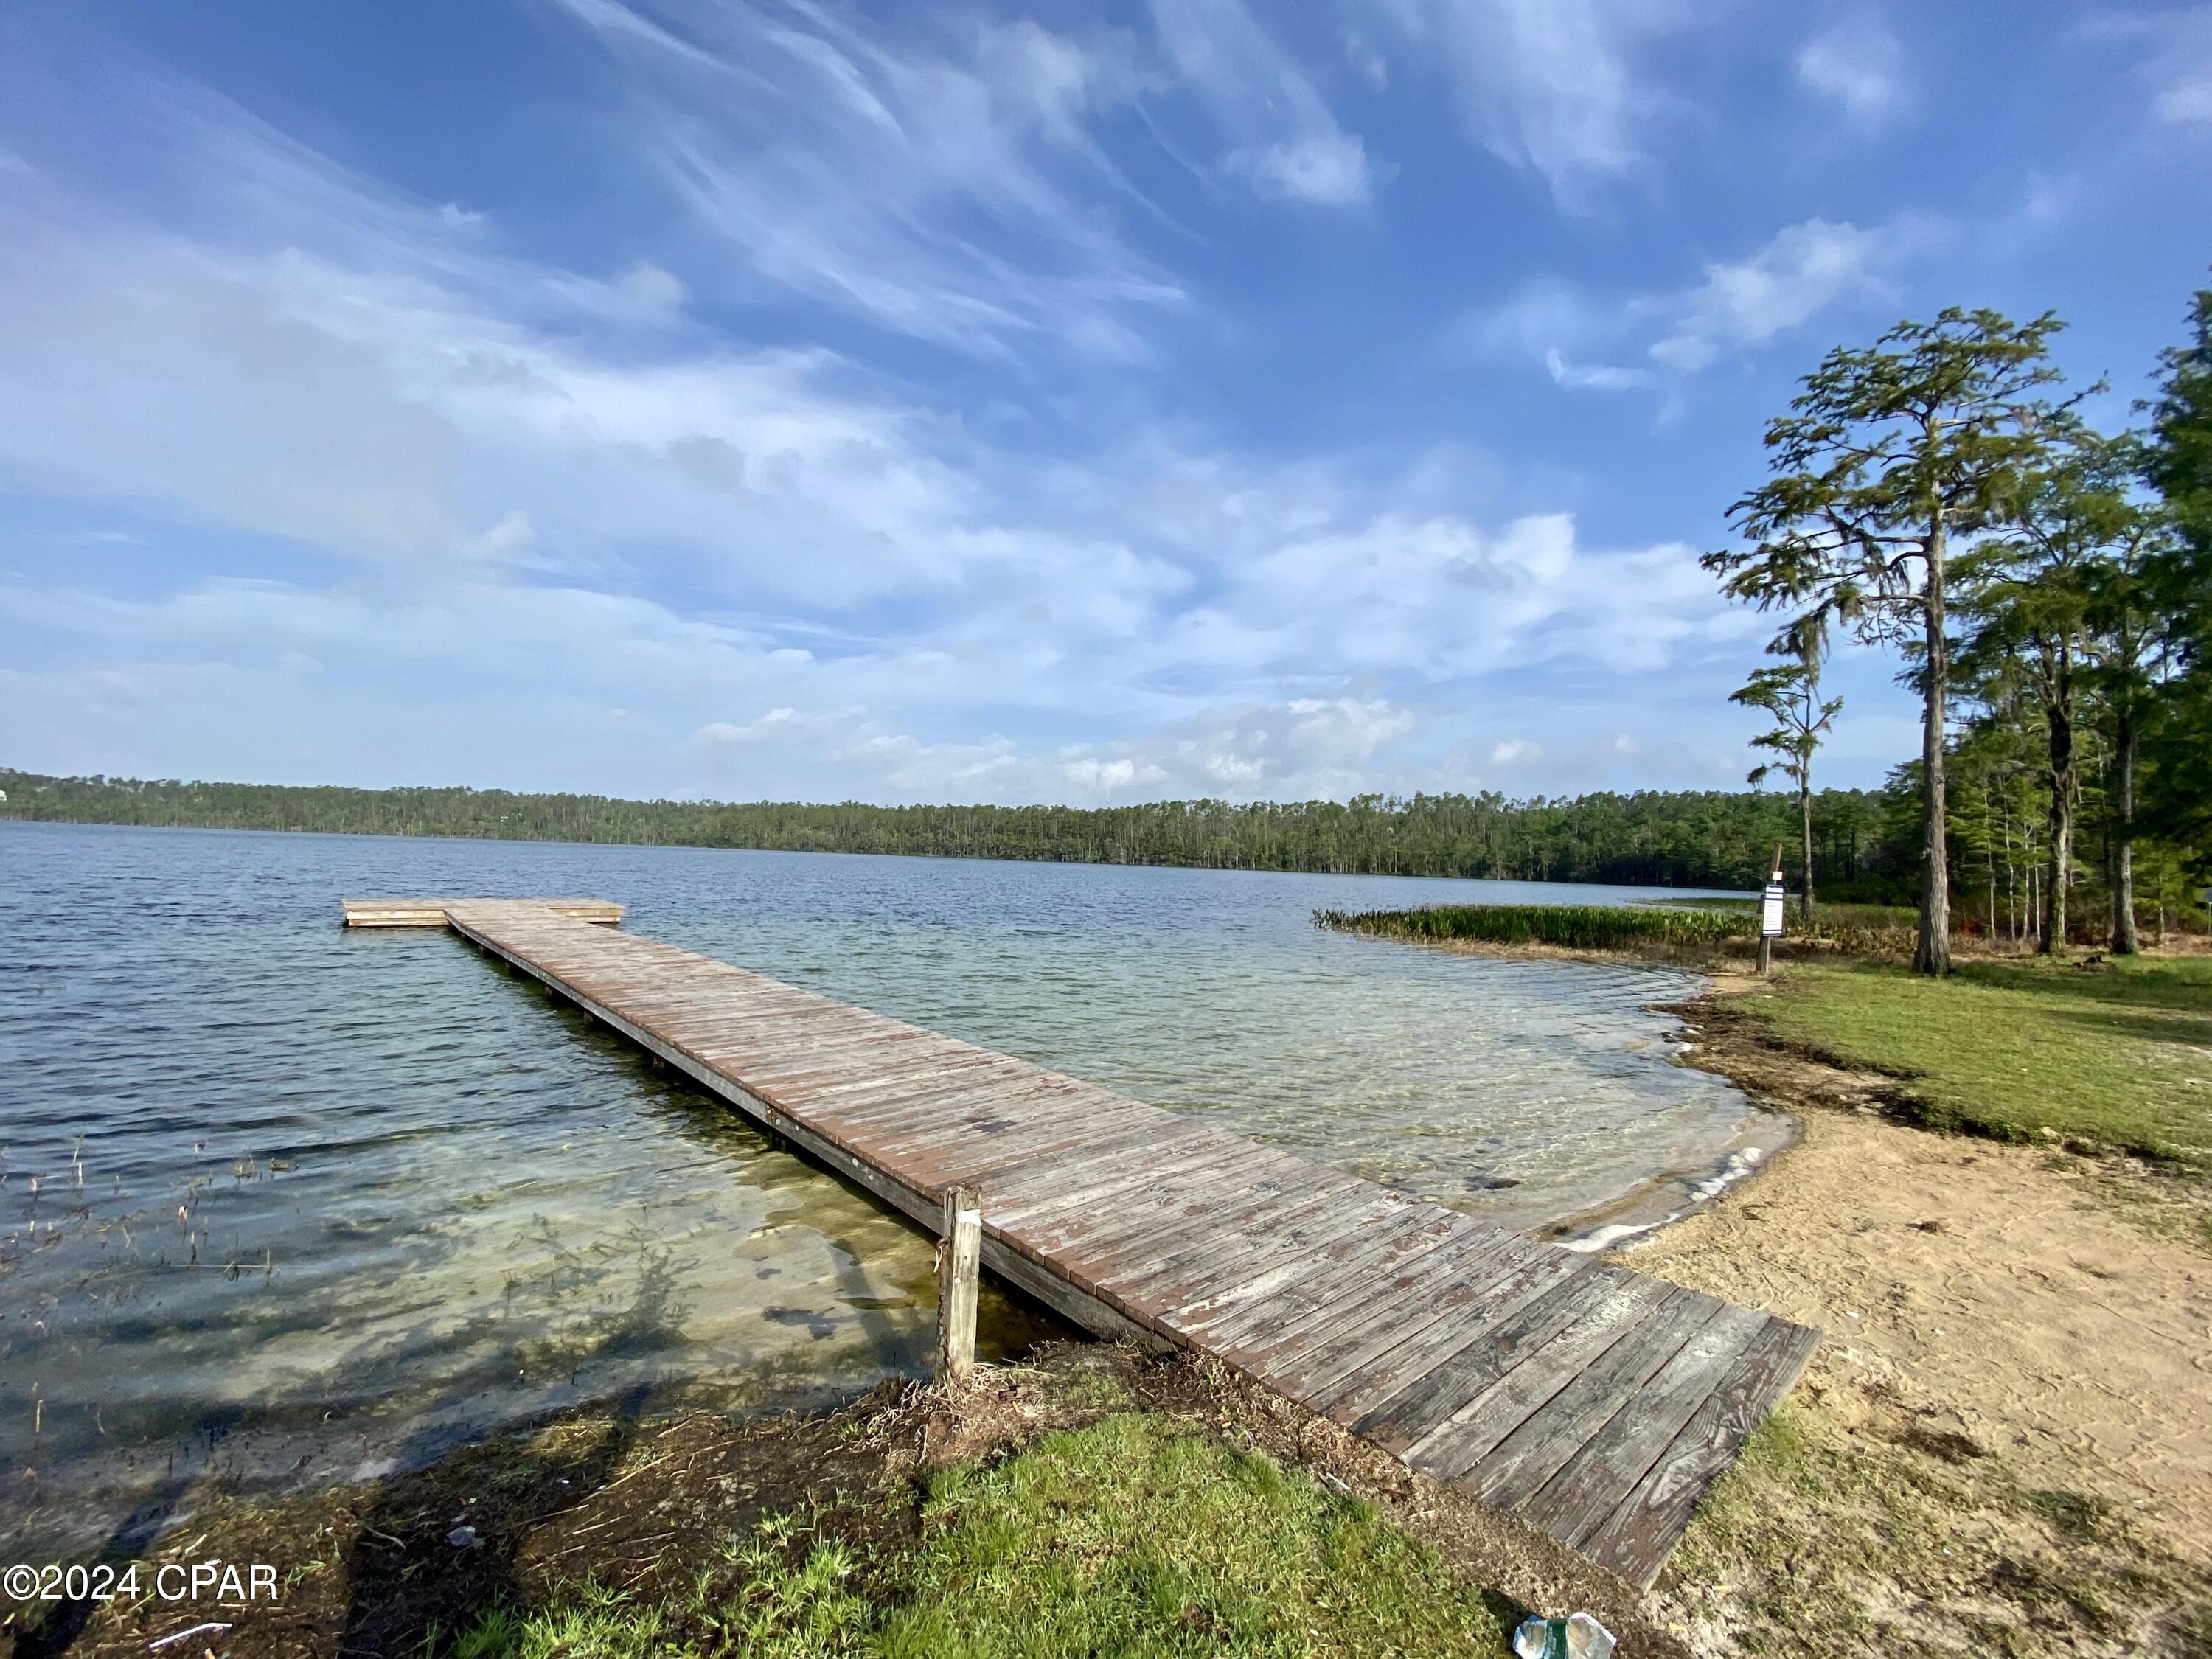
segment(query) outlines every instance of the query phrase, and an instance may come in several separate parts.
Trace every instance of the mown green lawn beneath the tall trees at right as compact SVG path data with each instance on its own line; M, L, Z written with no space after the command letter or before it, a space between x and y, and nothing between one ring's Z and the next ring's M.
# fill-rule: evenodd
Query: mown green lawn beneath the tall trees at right
M1907 1079L1936 1128L2124 1148L2212 1172L2212 958L1794 967L1781 1037Z

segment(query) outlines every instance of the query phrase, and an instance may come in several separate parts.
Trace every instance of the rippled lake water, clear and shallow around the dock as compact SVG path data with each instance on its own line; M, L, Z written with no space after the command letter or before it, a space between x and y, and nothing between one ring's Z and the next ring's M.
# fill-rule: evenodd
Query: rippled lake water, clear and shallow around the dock
M1515 1228L1679 1208L1772 1119L1672 1053L1688 975L1318 933L1635 889L0 823L0 1540L159 1524L619 1398L927 1367L931 1245L447 933L626 927ZM35 1188L35 1190L33 1190ZM987 1347L1042 1321L993 1298Z

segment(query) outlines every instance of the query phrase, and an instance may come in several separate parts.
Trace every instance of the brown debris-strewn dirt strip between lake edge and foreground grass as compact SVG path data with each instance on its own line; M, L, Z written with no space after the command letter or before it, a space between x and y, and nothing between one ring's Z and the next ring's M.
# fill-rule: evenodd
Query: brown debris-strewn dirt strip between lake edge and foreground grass
M803 1515L810 1542L836 1540L880 1564L916 1540L927 1471L995 1462L1130 1409L1376 1502L1513 1608L1590 1608L1630 1655L1686 1655L1610 1575L1217 1363L1064 1343L1026 1365L984 1367L960 1396L887 1383L816 1418L571 1416L367 1486L283 1504L217 1500L148 1551L142 1582L168 1564L270 1562L274 1604L60 1604L40 1624L0 1626L0 1659L144 1655L201 1621L228 1628L164 1652L420 1655L489 1608L544 1606L584 1582L650 1595L730 1571L732 1535L776 1515Z

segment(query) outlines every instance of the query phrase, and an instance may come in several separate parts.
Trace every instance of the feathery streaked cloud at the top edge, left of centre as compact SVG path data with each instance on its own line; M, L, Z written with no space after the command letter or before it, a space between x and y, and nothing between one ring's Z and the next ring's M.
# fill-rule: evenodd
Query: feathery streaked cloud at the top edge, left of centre
M1141 208L1088 131L1137 86L1117 38L562 2L628 75L644 161L770 283L978 354L1137 356L1133 314L1181 301L1091 199Z

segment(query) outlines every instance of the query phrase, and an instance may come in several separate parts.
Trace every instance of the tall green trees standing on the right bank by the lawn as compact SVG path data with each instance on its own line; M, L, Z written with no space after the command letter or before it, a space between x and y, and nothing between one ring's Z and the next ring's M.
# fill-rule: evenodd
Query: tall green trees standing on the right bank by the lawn
M2059 330L1947 310L1829 352L1767 427L1741 542L1705 555L1781 619L1734 697L1774 721L1754 741L1796 787L1807 916L1814 757L1843 710L1823 664L1838 633L1898 653L1922 743L1885 845L1918 876L1922 973L1949 971L1962 922L2132 953L2146 902L2163 929L2212 874L2212 288L2137 429L2084 418L2106 385L2066 385Z

